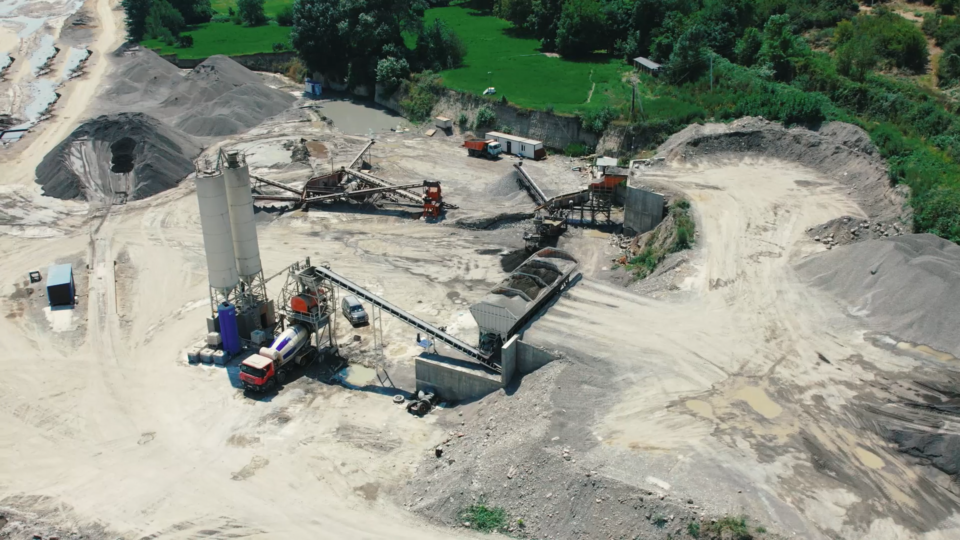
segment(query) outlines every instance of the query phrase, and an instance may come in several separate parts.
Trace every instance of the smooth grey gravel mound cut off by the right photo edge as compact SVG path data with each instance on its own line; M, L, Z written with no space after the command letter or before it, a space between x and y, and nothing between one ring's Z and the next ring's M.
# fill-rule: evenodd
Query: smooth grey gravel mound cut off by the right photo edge
M960 356L960 246L905 234L838 247L797 270L876 331Z

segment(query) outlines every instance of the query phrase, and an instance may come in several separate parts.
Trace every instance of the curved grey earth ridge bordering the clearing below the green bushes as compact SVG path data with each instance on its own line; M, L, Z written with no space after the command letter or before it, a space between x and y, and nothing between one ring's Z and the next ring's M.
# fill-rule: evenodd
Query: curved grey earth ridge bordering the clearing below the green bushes
M870 135L851 124L828 122L818 131L786 129L763 118L745 117L730 124L691 124L660 146L667 160L697 162L744 153L789 160L846 185L871 221L906 219L909 188L891 185L887 168L876 155Z

